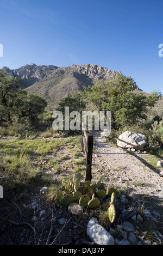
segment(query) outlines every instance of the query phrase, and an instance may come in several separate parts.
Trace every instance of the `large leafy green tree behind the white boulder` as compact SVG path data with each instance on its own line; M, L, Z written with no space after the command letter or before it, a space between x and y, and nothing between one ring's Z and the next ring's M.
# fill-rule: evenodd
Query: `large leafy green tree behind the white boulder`
M134 93L135 81L119 72L112 81L98 82L92 87L85 87L87 100L98 111L111 111L112 126L133 125L146 119L147 109L153 107L161 96L151 93L147 97L143 93Z

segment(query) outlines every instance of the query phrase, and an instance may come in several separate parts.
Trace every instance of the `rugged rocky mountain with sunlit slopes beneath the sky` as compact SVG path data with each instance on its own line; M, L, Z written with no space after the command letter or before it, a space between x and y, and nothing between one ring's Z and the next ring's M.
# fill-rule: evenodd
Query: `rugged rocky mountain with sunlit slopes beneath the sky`
M84 92L84 87L92 86L98 81L110 81L118 73L96 64L58 67L32 63L18 69L10 70L8 67L3 69L7 72L7 76L21 78L24 90L42 96L49 106L53 106L54 102L58 103L73 92ZM140 90L136 84L135 89Z

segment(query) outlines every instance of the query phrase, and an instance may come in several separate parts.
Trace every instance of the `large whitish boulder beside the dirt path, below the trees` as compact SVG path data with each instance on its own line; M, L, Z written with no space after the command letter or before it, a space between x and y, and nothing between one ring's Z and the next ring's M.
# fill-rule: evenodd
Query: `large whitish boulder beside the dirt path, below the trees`
M120 148L135 149L143 151L147 145L145 135L130 131L123 132L117 139L117 145Z

